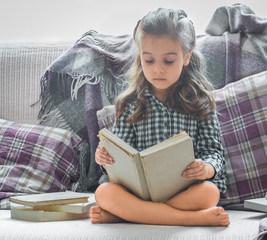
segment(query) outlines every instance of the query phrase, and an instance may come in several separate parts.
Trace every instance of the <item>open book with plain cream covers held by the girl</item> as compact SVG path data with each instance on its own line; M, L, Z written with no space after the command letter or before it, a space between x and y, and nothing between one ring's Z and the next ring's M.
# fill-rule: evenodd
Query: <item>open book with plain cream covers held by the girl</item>
M118 183L144 200L162 202L194 183L182 176L195 160L193 144L186 132L141 152L107 129L99 132L100 145L114 158L106 165L111 182Z

